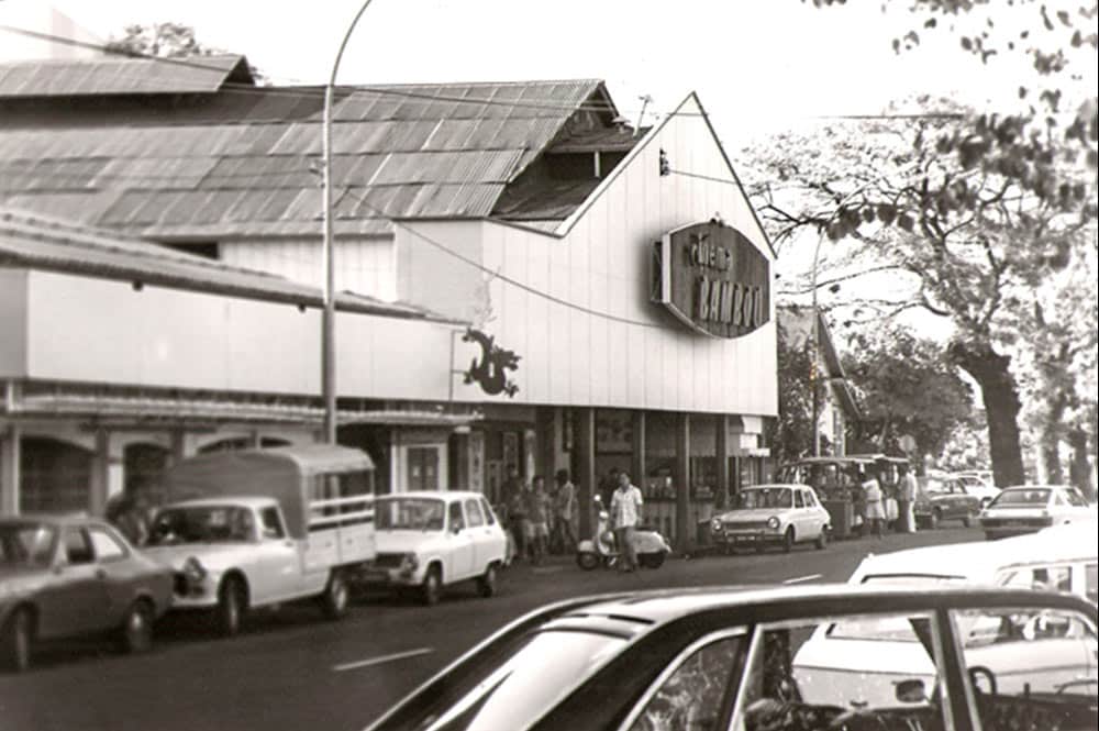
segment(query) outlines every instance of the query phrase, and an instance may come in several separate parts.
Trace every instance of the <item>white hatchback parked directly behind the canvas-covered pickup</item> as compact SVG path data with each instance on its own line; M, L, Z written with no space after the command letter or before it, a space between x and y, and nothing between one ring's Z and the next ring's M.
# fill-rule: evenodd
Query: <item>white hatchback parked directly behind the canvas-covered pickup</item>
M508 538L480 492L413 491L376 502L378 555L358 574L367 585L415 590L435 605L444 587L473 580L482 597L496 594Z

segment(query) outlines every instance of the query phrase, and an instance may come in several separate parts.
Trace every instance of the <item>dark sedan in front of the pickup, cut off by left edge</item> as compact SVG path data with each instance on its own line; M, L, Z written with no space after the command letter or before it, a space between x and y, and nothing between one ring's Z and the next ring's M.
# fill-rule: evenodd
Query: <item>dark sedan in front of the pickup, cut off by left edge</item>
M25 671L44 640L113 632L126 652L153 642L171 572L112 527L76 517L0 519L0 661Z

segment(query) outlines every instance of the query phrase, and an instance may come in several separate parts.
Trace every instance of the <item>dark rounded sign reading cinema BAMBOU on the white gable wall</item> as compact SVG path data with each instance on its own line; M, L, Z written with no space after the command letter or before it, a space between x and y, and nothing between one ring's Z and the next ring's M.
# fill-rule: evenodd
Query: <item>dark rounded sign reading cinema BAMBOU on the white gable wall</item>
M767 257L736 229L696 223L653 250L653 301L700 333L740 337L770 319Z

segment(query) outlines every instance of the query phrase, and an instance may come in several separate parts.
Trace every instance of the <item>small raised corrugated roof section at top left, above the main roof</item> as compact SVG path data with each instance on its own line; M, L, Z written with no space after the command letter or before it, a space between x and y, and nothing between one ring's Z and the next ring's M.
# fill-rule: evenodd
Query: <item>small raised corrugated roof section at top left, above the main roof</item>
M0 98L213 93L230 78L252 80L244 56L24 62L0 64Z

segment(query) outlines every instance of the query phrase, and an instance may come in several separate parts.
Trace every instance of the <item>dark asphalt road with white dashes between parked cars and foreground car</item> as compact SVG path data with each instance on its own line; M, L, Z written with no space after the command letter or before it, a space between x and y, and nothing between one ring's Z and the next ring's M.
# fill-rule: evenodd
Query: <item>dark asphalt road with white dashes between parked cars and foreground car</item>
M981 540L942 528L825 551L669 560L656 571L582 572L569 561L506 571L500 592L473 586L437 607L365 597L340 622L310 606L253 617L232 640L171 620L141 656L95 641L45 647L35 667L0 676L3 731L354 731L508 621L543 603L622 588L842 582L869 552Z

